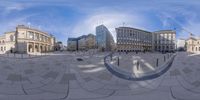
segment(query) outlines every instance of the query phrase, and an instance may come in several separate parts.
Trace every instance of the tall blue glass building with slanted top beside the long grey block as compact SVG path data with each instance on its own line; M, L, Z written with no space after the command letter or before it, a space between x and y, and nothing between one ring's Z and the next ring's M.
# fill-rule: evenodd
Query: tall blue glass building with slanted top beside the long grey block
M96 44L100 51L111 51L114 49L113 36L104 25L96 27Z

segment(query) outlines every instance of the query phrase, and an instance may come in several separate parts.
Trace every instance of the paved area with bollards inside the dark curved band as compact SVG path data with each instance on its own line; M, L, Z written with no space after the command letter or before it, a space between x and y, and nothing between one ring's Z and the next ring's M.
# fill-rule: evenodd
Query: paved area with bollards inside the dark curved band
M162 66L171 55L172 53L114 53L111 63L118 66L119 59L118 67L124 71L130 73L148 73L155 71L158 66Z

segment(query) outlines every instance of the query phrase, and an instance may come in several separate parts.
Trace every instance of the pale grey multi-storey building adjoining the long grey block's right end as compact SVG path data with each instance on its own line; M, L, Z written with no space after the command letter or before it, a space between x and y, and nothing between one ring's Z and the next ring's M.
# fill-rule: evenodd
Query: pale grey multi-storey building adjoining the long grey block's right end
M154 50L159 52L174 52L176 50L176 32L161 30L153 32Z

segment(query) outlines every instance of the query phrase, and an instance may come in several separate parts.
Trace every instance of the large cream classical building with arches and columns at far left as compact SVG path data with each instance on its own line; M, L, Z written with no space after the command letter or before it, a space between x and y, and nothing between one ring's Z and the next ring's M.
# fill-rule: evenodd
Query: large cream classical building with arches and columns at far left
M41 53L54 50L55 37L46 32L18 25L0 36L0 52ZM2 48L2 49L1 49Z

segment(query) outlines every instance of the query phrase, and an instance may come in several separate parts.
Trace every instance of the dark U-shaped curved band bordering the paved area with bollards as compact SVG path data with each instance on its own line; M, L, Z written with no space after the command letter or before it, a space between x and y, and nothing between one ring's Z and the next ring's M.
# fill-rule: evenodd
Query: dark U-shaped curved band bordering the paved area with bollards
M112 53L104 57L104 65L108 71L110 71L113 75L122 79L132 80L132 81L142 81L142 80L154 79L164 74L171 67L176 54L173 54L163 65L158 66L156 70L146 73L137 73L137 76L134 73L124 71L120 69L118 66L112 65L109 59L111 56Z

